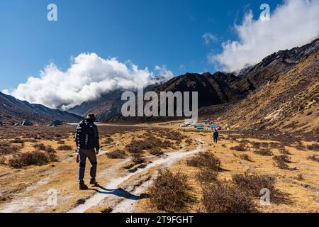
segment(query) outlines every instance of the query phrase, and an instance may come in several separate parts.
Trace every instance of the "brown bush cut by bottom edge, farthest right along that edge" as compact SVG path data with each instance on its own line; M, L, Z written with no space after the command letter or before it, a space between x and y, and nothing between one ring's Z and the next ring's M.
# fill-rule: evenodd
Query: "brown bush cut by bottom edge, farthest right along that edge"
M207 213L251 213L256 211L252 195L229 182L203 187L201 199Z

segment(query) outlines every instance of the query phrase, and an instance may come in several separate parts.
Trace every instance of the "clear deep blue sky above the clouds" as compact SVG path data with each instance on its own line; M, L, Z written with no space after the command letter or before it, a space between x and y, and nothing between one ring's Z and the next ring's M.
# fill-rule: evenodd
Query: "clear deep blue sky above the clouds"
M139 68L166 65L175 75L214 72L208 54L236 40L234 23L252 9L258 17L265 1L213 0L1 0L0 90L38 76L50 62L67 70L70 57L95 52L99 57L131 60ZM55 3L58 21L47 21ZM269 1L272 9L281 1ZM204 43L203 34L218 40Z

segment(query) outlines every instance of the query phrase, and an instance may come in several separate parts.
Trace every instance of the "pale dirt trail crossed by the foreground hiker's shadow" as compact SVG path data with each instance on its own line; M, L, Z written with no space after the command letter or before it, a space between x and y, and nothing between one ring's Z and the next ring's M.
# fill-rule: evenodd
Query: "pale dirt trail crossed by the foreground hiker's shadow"
M94 196L91 196L85 201L84 204L80 204L79 206L71 209L68 212L83 213L87 209L98 206L101 203L105 203L111 206L113 212L131 212L134 210L135 202L140 198L140 194L142 194L142 192L144 192L144 190L152 183L152 180L155 178L156 174L153 175L151 179L143 182L139 187L135 187L135 189L133 189L133 192L126 192L125 190L119 188L118 185L130 179L130 177L134 177L135 175L138 175L140 173L147 172L153 167L169 167L170 165L173 165L175 162L183 159L184 157L194 155L201 152L202 150L203 146L198 146L198 148L189 152L179 151L175 153L167 153L167 156L159 157L159 159L153 161L143 169L139 169L136 172L128 173L123 177L111 179L111 181L108 182L105 187L101 187L103 190L97 192L96 194L94 194Z

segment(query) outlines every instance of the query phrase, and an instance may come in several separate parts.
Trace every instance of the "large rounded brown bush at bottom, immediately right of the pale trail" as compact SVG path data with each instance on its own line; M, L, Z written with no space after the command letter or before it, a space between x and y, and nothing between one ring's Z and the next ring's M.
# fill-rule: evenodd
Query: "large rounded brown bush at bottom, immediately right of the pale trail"
M194 202L186 175L162 170L148 189L150 208L169 213L186 211L186 206Z

